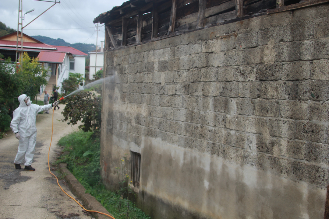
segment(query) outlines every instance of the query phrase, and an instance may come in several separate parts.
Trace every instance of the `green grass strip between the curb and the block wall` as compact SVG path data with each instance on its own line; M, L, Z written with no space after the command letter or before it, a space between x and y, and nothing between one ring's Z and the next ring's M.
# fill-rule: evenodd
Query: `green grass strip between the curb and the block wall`
M60 139L68 155L62 155L56 164L67 163L67 168L116 219L151 219L135 204L123 198L122 192L110 191L102 184L100 177L100 139L91 132L73 132ZM126 190L125 190L126 191Z

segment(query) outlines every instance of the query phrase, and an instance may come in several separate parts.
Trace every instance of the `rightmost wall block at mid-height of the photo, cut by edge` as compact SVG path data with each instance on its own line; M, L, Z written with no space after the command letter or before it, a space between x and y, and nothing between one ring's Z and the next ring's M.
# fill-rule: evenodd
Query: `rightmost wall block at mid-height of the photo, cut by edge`
M329 103L328 102L318 102L310 101L310 117L309 120L319 120L319 121L328 121L329 117Z

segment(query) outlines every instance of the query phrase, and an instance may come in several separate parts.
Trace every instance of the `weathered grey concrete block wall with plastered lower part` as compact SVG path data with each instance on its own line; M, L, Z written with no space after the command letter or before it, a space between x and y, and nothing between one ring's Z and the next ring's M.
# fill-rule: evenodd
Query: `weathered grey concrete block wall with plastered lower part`
M135 151L138 205L156 219L323 218L328 15L324 4L105 52L107 186Z

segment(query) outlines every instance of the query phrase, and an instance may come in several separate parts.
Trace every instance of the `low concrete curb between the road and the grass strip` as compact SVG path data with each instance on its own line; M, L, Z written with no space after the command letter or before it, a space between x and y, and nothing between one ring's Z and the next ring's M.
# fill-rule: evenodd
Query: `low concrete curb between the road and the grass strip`
M89 193L85 193L86 189L80 184L80 182L73 176L73 174L66 168L67 164L61 163L60 165L60 171L64 175L64 179L68 184L68 187L70 188L71 192L77 197L84 207L88 210L95 210L102 213L110 214L102 205L99 203L96 198ZM90 212L93 217L96 219L109 219L110 217Z

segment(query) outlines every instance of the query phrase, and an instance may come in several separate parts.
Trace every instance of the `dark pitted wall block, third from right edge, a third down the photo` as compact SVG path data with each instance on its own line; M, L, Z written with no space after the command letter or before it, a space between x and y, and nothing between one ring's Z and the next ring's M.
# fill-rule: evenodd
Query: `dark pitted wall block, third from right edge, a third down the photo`
M260 81L281 80L282 63L262 63L256 68L256 78Z

